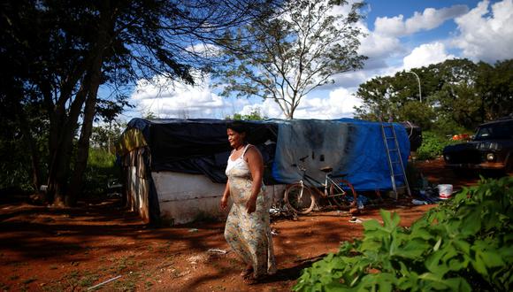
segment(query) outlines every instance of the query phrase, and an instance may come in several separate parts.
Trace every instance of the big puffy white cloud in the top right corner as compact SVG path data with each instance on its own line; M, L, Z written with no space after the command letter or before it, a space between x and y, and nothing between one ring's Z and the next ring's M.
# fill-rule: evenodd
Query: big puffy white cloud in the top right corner
M483 1L465 15L456 18L460 35L454 44L464 58L494 63L513 58L513 0L491 6Z

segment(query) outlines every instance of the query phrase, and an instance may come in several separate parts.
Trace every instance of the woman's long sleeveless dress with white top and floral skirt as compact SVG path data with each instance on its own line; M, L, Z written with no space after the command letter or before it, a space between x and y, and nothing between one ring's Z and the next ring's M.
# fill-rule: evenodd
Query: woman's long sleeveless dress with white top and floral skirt
M253 276L257 278L276 272L269 220L272 198L265 196L262 184L257 197L257 210L251 214L246 211L253 182L248 163L244 160L248 147L250 145L246 145L240 158L228 158L226 176L234 204L226 219L225 238L244 262L253 266Z

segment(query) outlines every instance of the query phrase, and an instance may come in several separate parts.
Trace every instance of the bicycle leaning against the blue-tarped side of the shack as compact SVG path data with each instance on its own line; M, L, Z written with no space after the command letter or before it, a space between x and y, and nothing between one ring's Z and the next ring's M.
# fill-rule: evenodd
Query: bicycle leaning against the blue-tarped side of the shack
M304 160L308 158L300 158L299 160L304 163ZM314 193L321 198L327 198L328 202L331 200L334 204L344 210L348 210L356 205L356 191L353 185L342 179L347 176L347 173L333 176L332 167L323 167L320 169L321 172L325 173L325 183L321 183L316 179L312 178L306 173L307 169L304 165L292 165L297 167L302 172L302 179L296 183L290 184L285 189L284 201L287 204L287 208L294 211L297 214L308 214L313 210L316 204L316 197ZM316 185L320 185L324 188L324 192L321 191ZM348 201L348 197L352 196L352 202Z

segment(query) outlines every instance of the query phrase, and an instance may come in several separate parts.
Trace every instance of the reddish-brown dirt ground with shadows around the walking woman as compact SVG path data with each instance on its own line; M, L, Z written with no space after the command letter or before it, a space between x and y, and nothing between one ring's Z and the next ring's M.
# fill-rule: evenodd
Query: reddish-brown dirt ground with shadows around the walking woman
M440 161L417 163L429 181L461 188L476 182L443 169ZM410 224L433 205L409 200L388 204ZM392 206L392 207L390 207ZM379 219L365 210L362 220ZM151 228L116 200L55 209L0 204L0 290L80 291L121 276L103 291L285 291L302 268L363 235L339 211L313 212L298 220L277 219L272 228L279 271L257 285L244 284L241 261L228 250L224 222ZM226 254L211 249L228 251Z

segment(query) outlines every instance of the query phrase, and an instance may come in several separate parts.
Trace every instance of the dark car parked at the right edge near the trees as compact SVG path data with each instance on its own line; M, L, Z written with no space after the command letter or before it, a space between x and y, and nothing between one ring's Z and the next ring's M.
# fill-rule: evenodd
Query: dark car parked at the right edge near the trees
M471 140L443 150L446 166L454 169L489 169L509 172L513 166L513 117L478 127Z

